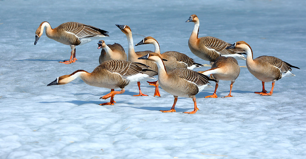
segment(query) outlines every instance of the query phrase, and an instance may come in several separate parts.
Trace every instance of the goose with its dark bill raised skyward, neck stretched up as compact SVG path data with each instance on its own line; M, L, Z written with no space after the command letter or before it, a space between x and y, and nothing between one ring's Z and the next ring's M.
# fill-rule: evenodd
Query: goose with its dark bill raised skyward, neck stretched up
M152 53L152 51L137 51L137 52L135 52L131 28L127 25L116 24L116 26L125 34L126 38L128 39L128 44L129 44L128 61L143 63L145 65L148 65L152 70L157 72L157 65L156 65L155 62L152 62L152 61L149 61L149 60L138 59L138 58L140 58L144 55ZM157 75L157 73L155 73L155 72L147 72L147 73L148 73L149 76ZM160 97L160 93L159 93L159 89L158 89L158 86L159 86L158 81L148 82L148 83L150 85L155 86L155 92L154 92L153 96L154 97L155 96ZM148 96L148 95L142 94L142 92L140 90L140 82L137 82L137 84L138 84L138 88L139 88L139 94L134 95L134 96Z

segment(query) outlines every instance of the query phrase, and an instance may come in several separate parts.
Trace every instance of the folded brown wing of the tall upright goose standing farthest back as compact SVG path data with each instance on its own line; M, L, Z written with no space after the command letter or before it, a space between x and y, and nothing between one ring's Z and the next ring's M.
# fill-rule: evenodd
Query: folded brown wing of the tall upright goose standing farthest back
M228 47L232 44L229 44L229 43L227 43L227 42L225 42L221 39L215 38L215 37L203 37L203 43L207 48L214 49L220 55L229 55L229 54L236 54L236 53L245 52L245 51L239 50L239 49L225 49L226 47Z

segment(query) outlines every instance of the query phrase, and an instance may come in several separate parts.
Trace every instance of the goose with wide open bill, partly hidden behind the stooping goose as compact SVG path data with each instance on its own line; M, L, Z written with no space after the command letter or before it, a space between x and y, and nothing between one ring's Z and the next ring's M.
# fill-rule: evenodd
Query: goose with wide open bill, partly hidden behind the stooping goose
M100 48L103 48L99 57L100 64L108 60L128 60L124 48L120 44L114 43L106 45L104 40L99 40L98 49Z

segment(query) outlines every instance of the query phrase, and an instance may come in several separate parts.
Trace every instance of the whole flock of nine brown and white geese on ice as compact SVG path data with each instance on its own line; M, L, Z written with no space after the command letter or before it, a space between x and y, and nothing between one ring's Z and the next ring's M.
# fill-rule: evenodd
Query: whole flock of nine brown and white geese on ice
M236 59L246 60L248 70L262 81L263 90L255 92L261 95L272 95L276 80L284 76L295 76L290 72L292 70L291 67L299 69L273 56L260 56L253 59L252 48L244 41L229 44L215 37L199 38L200 21L194 14L186 22L194 23L194 28L188 41L191 52L199 58L209 61L211 69L199 72L193 71L193 68L202 67L203 65L177 51L167 51L161 54L159 43L153 37L145 37L135 46L153 44L154 52L135 52L131 28L127 25L116 24L127 37L128 56L120 44L106 45L105 41L100 40L98 49L103 49L99 57L100 65L98 67L91 73L77 70L69 75L60 76L47 86L67 84L80 77L88 85L111 89L110 93L101 97L102 99L111 97L110 102L100 105L113 105L116 103L114 95L124 93L125 86L132 82L137 82L139 87L139 94L134 96L147 96L140 90L140 81L155 79L153 76L158 75L157 81L148 82L150 85L155 86L154 96L160 97L159 86L174 96L172 108L162 112L175 112L177 97L187 97L192 98L194 110L184 113L194 114L199 110L196 105L195 95L207 87L212 87L208 85L209 81L215 81L216 85L214 94L207 97L217 98L216 91L219 80L231 81L230 93L225 97L233 97L231 95L233 83L240 73L240 67ZM36 30L34 44L42 36L44 28L46 28L47 37L62 44L70 45L71 56L69 61L62 62L65 64L76 62L76 45L82 45L93 39L109 36L105 30L82 23L63 23L52 29L48 22L43 22ZM241 54L246 54L246 58ZM209 77L208 75L211 76ZM264 83L271 81L272 89L270 93L267 93ZM114 89L116 88L121 90L115 91Z

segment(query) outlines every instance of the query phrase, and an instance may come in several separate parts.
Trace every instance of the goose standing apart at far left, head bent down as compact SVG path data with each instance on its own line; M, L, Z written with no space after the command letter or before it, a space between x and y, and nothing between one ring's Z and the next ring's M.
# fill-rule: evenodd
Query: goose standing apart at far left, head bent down
M71 48L71 56L69 61L64 61L60 63L69 64L75 62L76 59L76 49L77 45L86 44L89 41L100 38L100 37L108 37L108 32L105 30L101 30L99 28L85 25L77 22L67 22L62 23L58 27L52 29L48 22L42 22L36 30L35 33L35 42L37 41L43 34L43 28L46 27L46 35L50 39L58 41L65 45L70 45Z

